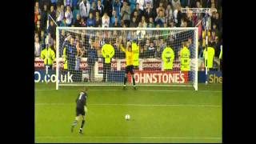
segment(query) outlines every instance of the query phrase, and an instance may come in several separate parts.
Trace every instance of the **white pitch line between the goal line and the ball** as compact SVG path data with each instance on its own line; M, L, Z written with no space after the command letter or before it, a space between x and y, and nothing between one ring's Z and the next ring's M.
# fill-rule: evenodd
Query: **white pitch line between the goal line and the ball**
M75 103L36 103L35 106L66 106L75 105ZM219 105L191 105L191 104L170 104L170 105L146 105L146 104L90 104L90 106L187 106L187 107L222 107Z

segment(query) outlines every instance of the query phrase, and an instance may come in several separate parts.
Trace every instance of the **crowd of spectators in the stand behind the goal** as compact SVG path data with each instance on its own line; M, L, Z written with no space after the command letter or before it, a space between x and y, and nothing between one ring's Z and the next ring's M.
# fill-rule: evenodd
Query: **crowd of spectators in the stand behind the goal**
M208 38L211 46L214 46L215 57L218 57L222 44L221 0L38 0L34 6L34 55L39 57L46 44L56 50L56 26L145 28L198 26L198 56L202 57L202 51L206 46L206 28L203 21L205 14L182 13L182 8L202 7L211 10L208 19L210 24ZM139 41L140 58L161 58L162 50L166 45L170 45L165 31L162 31L162 36L158 38L150 38L152 35L161 35L153 34L152 31L147 34L144 30L136 33L137 36L142 36L142 41ZM84 34L74 35L76 42L81 41L78 47L82 50L83 56L87 57L87 50L94 46L100 57L101 46L108 34ZM125 55L118 51L118 44L119 41L126 41L124 38L127 38L127 34L125 37L122 37L123 32L118 34L114 31L111 34L113 35L109 34L109 36L114 37L111 43L117 50L115 55L124 58ZM60 35L61 38L65 38L65 31L62 30ZM130 37L133 35L131 34ZM186 41L190 39L187 38ZM64 39L61 42L64 42Z

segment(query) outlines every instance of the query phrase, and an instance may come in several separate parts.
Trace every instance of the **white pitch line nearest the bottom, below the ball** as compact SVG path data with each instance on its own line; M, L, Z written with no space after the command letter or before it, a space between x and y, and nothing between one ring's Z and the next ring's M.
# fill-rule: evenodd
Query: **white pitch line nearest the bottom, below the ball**
M219 137L125 137L125 136L35 136L35 138L146 138L146 139L222 139Z

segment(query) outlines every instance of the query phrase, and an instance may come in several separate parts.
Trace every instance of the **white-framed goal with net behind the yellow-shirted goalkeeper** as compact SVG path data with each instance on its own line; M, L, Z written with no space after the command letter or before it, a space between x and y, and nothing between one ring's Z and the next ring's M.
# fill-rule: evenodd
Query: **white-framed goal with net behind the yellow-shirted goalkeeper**
M56 89L59 86L122 86L126 53L121 45L126 48L128 43L132 45L136 85L194 86L194 90L198 90L196 27L57 27ZM105 44L114 49L108 46L102 54ZM130 74L127 84L132 84Z

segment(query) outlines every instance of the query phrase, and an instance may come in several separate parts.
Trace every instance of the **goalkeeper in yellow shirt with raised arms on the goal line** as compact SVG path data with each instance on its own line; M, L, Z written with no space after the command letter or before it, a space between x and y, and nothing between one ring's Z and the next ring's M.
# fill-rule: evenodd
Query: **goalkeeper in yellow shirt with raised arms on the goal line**
M137 86L135 85L135 78L134 78L134 51L132 51L132 45L130 42L127 42L126 49L122 44L120 45L123 52L126 53L126 74L123 82L123 90L126 90L126 82L127 82L127 75L130 72L133 78L134 90L137 90Z

